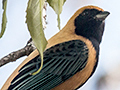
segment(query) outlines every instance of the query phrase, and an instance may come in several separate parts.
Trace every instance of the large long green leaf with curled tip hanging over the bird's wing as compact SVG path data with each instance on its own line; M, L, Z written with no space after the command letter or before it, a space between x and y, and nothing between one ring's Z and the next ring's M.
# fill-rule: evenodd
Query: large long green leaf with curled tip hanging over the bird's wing
M47 40L43 32L42 11L45 0L29 0L27 7L26 23L32 40L41 56L41 67L32 73L35 75L40 72L43 66L43 51L47 45Z

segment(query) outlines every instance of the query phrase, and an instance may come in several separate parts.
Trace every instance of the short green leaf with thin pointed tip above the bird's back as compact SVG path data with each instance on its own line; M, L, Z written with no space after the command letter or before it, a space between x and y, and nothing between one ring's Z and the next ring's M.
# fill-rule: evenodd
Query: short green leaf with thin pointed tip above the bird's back
M62 6L64 5L66 0L47 0L49 5L53 8L53 10L58 15L57 21L58 21L58 28L60 29L60 14L62 12Z

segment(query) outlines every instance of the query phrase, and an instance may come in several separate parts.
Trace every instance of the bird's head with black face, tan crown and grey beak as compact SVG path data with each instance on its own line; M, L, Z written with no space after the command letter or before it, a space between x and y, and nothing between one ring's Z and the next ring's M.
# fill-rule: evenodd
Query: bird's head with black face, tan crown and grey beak
M104 31L104 20L109 12L96 6L80 8L71 18L74 20L75 33L88 39L94 38L101 42Z

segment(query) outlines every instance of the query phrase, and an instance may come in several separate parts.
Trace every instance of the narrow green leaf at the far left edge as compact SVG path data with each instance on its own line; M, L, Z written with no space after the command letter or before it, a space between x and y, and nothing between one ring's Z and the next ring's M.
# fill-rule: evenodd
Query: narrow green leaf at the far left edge
M7 8L7 0L3 0L3 15L2 15L2 24L1 24L1 32L0 38L3 36L7 24L7 17L6 17L6 8Z

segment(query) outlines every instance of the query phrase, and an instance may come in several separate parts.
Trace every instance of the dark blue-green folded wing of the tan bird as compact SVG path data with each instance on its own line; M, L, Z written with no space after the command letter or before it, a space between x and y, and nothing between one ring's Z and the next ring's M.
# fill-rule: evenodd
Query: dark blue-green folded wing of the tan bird
M49 90L81 71L88 59L88 48L80 40L57 44L44 52L42 70L31 75L40 67L37 56L26 63L19 74L12 80L8 90Z

